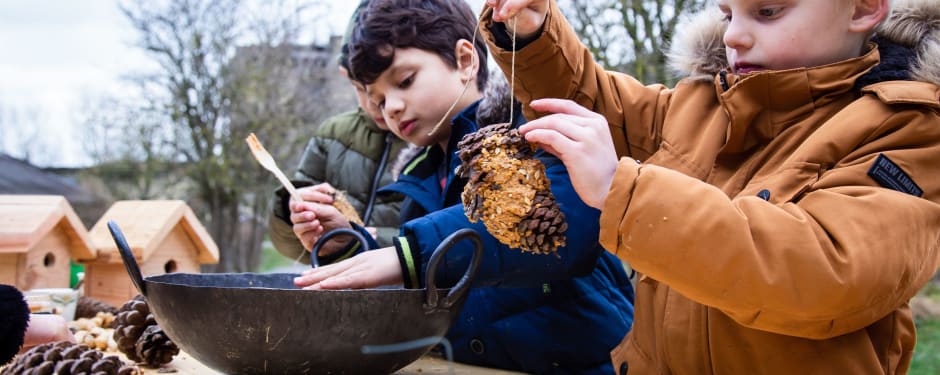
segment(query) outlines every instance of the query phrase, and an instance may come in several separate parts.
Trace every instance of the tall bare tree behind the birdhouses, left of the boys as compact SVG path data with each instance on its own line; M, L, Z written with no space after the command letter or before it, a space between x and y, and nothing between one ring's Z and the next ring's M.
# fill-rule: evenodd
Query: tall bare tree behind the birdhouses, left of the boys
M337 78L329 48L296 42L300 14L314 8L284 4L266 3L258 11L242 9L237 0L122 2L137 46L159 69L130 78L139 99L112 107L118 113L102 110L86 119L90 129L97 124L90 133L111 131L131 145L115 146L117 139L109 137L96 155L138 166L125 170L136 174L136 193L184 199L193 207L221 252L210 271L252 271L259 261L276 185L251 157L246 136L257 133L282 165L291 166L287 155L300 153L308 124L319 123L342 100L330 93ZM167 194L170 187L183 191Z

